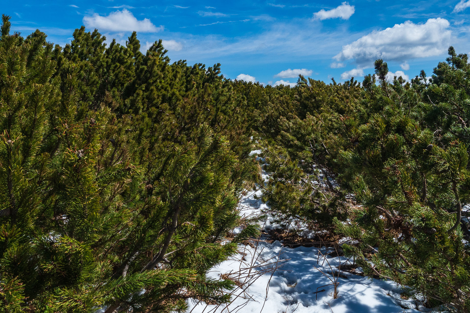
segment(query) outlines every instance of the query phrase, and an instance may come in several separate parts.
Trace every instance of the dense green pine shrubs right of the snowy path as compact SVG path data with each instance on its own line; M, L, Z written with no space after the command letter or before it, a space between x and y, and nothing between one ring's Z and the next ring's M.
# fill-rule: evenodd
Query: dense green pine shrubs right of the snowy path
M388 81L383 60L362 87L301 77L264 149L264 200L278 221L350 237L344 251L367 275L462 312L470 308L467 62L450 47L431 80L422 71L411 84Z

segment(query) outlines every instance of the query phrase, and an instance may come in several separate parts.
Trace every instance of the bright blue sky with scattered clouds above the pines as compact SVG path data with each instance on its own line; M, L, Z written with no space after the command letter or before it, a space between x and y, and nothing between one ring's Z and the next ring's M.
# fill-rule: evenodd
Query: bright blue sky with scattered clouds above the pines
M162 38L172 61L219 62L224 76L263 84L361 81L376 58L390 76L431 76L449 45L470 52L470 0L67 1L1 0L1 13L61 46L81 25L121 44L136 30L142 50Z

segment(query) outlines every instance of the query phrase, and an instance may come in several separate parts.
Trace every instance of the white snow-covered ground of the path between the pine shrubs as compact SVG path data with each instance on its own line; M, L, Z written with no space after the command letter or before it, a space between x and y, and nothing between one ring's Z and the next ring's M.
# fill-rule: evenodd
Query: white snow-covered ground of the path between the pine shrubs
M266 179L266 173L263 173ZM265 204L252 193L241 206L247 215L259 214ZM264 229L279 227L270 219ZM268 239L262 237L261 240ZM345 257L331 257L334 248L300 246L288 248L279 241L240 245L239 253L214 267L213 278L233 279L237 288L229 305L190 302L190 313L411 313L417 311L411 300L400 298L394 282L368 279L340 271L350 264ZM335 278L333 277L333 274ZM337 298L334 285L337 283ZM325 286L326 285L326 286Z

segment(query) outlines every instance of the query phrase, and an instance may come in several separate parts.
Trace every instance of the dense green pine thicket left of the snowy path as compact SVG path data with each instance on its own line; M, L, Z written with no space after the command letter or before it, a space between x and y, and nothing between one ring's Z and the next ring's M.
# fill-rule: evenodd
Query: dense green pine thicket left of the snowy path
M142 54L135 32L106 47L82 27L61 48L9 26L3 15L1 312L229 301L233 282L206 273L258 234L237 204L259 168L246 99L219 65L170 64L161 40Z

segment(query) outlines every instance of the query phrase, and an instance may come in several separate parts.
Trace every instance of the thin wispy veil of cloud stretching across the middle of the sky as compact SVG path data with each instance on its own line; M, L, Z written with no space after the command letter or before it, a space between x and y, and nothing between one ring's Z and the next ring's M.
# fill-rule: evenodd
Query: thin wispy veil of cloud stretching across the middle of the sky
M214 23L228 23L217 21ZM236 21L241 22L241 21ZM205 24L203 24L205 25ZM186 35L174 38L184 44L184 53L173 53L173 58L182 58L191 62L211 58L223 61L229 56L263 55L269 62L285 62L286 58L305 57L331 58L331 50L339 51L350 33L338 31L314 31L309 28L311 22L295 21L267 24L268 29L255 34L241 34L236 37L223 35Z

